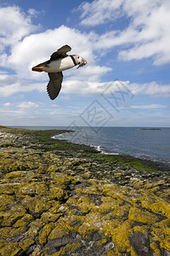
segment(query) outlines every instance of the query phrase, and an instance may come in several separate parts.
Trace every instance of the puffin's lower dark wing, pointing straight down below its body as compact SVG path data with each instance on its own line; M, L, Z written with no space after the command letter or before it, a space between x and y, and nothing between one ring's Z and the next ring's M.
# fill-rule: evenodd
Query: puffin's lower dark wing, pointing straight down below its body
M48 77L49 77L49 83L47 86L48 96L50 97L51 100L54 100L59 95L59 91L61 90L63 74L62 72L48 73Z

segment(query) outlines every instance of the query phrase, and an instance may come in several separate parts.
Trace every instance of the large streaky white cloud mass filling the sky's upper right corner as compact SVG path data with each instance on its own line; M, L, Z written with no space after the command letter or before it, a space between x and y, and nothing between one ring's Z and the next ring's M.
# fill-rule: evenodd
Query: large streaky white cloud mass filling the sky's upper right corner
M96 26L121 16L127 19L122 31L105 32L97 49L122 45L121 60L152 57L155 65L170 62L170 2L167 0L94 0L82 3L82 24ZM113 23L114 24L114 23Z

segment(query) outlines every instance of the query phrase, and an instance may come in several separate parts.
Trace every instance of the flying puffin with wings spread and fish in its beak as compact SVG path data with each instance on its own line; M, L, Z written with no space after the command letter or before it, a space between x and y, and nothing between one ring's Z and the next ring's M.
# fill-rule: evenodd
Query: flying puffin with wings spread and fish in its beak
M47 86L48 96L51 100L54 100L61 89L63 81L62 71L70 69L79 65L77 68L85 66L88 62L79 55L67 55L66 53L71 50L71 47L67 44L55 51L50 60L42 62L35 67L32 67L32 71L46 72L48 73L49 82Z

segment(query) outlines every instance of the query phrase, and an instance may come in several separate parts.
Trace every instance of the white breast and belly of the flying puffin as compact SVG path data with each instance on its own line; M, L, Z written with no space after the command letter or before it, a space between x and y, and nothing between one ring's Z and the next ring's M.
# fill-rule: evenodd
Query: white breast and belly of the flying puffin
M56 72L64 71L65 69L69 69L74 66L75 65L74 65L71 57L67 56L67 57L59 59L57 61L49 62L46 67L42 68L42 71L45 71L48 73L56 73Z

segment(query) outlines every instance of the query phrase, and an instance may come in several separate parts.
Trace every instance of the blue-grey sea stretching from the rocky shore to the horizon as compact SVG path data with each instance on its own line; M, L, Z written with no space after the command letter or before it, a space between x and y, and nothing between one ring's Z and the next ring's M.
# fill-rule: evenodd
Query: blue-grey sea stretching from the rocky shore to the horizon
M16 127L16 126L14 126ZM32 130L68 130L65 126L20 126ZM128 154L170 166L170 128L75 126L72 132L54 135L54 139L86 144L101 154Z

